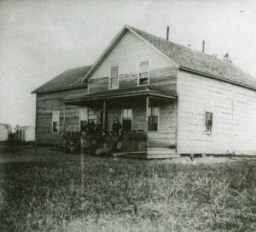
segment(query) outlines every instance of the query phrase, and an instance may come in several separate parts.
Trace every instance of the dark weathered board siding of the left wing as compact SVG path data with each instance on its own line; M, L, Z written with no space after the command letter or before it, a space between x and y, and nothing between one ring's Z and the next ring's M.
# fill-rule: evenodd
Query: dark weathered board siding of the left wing
M67 96L77 96L87 92L79 88L55 93L37 94L36 142L38 144L57 144L64 132L65 105L60 101ZM52 111L60 110L59 133L52 133ZM66 130L79 131L79 106L67 105Z

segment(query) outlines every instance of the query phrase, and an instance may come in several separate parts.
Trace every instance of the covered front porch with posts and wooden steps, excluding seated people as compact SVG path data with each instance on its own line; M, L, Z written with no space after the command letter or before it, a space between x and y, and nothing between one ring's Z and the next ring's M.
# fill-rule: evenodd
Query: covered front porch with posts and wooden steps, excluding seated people
M119 150L114 152L115 156L177 156L177 99L170 93L163 93L147 86L91 93L79 98L67 98L64 102L66 105L77 105L81 109L87 109L84 110L87 116L79 116L81 131L83 125L92 119L94 122L100 121L102 129L109 132L112 130L114 118L117 118L125 134L146 135L144 150Z

